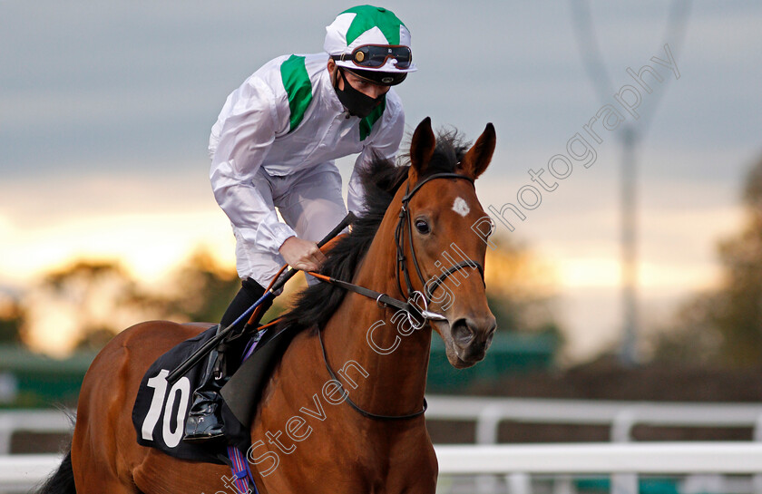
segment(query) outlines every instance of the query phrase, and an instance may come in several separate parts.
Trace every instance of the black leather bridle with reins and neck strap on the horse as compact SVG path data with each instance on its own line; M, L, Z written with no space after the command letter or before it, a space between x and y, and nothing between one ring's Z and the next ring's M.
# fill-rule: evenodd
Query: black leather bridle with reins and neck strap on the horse
M479 264L478 262L474 261L473 259L464 259L463 262L460 262L458 264L454 264L453 266L449 267L445 271L443 271L439 276L436 276L429 280L427 283L425 281L424 275L421 271L421 267L418 265L418 259L415 257L415 247L413 246L413 226L412 222L410 220L410 199L413 199L413 196L415 195L415 192L420 190L426 183L435 180L435 179L465 179L474 183L474 179L471 177L468 177L466 175L462 175L460 173L435 173L433 175L430 175L426 177L425 179L419 181L415 184L415 187L410 190L410 183L408 182L407 187L405 189L405 196L402 198L402 208L400 208L399 211L399 220L397 221L396 228L395 228L395 243L396 243L396 282L397 286L399 287L399 293L405 294L402 287L402 280L405 280L405 288L406 288L406 298L407 301L402 301L399 299L396 299L394 297L391 297L389 295L376 292L374 290L371 290L369 288L366 288L365 286L357 286L352 283L348 283L346 281L337 280L336 278L332 278L330 276L324 276L319 275L318 273L310 273L310 275L318 277L318 279L322 281L326 281L327 283L331 283L336 286L341 286L342 288L355 292L359 295L364 295L369 298L376 299L376 304L381 307L386 306L392 306L396 309L399 309L401 311L404 311L407 315L407 318L412 324L412 327L415 329L420 329L423 327L425 322L427 320L435 320L435 321L446 321L447 318L444 315L437 314L434 312L430 312L428 310L428 304L431 302L432 296L434 295L434 292L436 288L443 283L445 283L446 279L449 276L452 276L457 271L464 269L466 267L473 267L479 271L479 274L482 276L482 282L484 283L484 267ZM406 225L406 228L405 228ZM407 232L407 240L408 240L408 246L410 247L410 257L413 262L413 266L415 267L415 274L418 276L418 279L421 282L421 286L423 287L423 292L420 290L415 290L413 287L413 283L411 281L410 272L407 268L407 262L405 257L405 230ZM400 276L400 273L402 276ZM423 302L423 309L418 305L417 301L420 300ZM363 410L360 408L357 403L352 402L352 400L349 399L348 393L346 390L344 390L344 387L341 386L341 383L338 381L336 374L331 369L330 365L328 364L327 354L326 354L326 346L323 344L323 336L322 331L318 330L318 340L320 341L320 349L323 352L323 361L326 363L326 368L328 370L328 373L331 376L331 379L336 381L339 386L342 388L342 391L344 392L345 401L354 408L357 412L359 412L364 417L367 417L369 419L376 419L376 420L382 420L382 421L394 421L394 420L406 420L406 419L414 419L415 417L418 417L422 415L426 411L426 400L424 398L424 406L423 409L418 412L408 413L405 415L379 415L372 412L367 412L366 410Z

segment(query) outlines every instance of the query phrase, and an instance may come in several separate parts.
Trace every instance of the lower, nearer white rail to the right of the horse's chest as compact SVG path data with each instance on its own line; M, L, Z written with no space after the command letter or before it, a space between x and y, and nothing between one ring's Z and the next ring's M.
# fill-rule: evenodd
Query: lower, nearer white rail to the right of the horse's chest
M685 494L758 494L762 488L762 444L751 441L441 445L435 450L440 480L476 476L465 484L465 492L532 494L532 475L538 474L552 475L556 494L575 491L572 476L609 474L613 494L638 494L642 474L679 476L679 492ZM437 492L455 491L444 484Z

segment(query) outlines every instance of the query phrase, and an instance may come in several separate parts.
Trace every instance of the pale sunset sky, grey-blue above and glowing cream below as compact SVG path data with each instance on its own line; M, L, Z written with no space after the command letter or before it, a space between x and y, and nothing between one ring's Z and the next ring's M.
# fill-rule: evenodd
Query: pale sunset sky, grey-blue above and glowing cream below
M739 188L762 156L762 5L694 2L672 40L669 2L589 5L611 79L599 96L582 63L570 2L391 1L413 35L417 73L398 86L410 131L425 116L498 137L477 190L484 208L517 203L529 170L573 161L515 230L551 267L559 320L577 355L619 335L620 132L584 126L611 105L637 152L640 304L647 324L717 282L718 239L742 223ZM232 262L230 226L210 193L207 142L222 103L260 64L322 50L345 2L0 2L0 291L18 294L73 258L120 259L153 282L199 244ZM672 43L676 73L667 60ZM614 95L626 72L638 120ZM637 85L637 84L636 84ZM626 97L626 95L625 95ZM648 121L648 125L646 125ZM601 125L601 123L598 123ZM580 150L579 147L572 148ZM353 160L341 160L345 177ZM532 199L524 193L523 199Z

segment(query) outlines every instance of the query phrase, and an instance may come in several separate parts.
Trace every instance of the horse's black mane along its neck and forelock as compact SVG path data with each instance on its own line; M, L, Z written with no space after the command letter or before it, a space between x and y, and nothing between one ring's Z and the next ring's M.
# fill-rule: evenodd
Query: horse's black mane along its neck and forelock
M466 150L468 143L462 140L457 131L440 131L434 156L422 178L435 173L453 172ZM397 189L407 178L410 158L405 154L400 157L400 161L400 165L395 166L389 160L376 158L366 169L360 171L360 179L365 189L365 212L352 223L351 232L339 238L335 246L327 252L327 260L320 273L344 281L352 280L357 266L376 237L386 209L394 199ZM347 291L343 288L327 283L308 286L297 295L293 307L282 316L279 325L296 325L298 330L316 324L322 327L336 312L346 294Z

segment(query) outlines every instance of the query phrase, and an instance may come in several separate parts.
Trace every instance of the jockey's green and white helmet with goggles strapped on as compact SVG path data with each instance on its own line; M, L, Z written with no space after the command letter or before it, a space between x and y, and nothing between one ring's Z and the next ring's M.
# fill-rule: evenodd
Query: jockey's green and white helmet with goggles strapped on
M410 31L390 10L359 5L339 14L326 27L323 48L336 64L354 72L389 73L394 79L415 72ZM391 82L390 77L389 82Z

